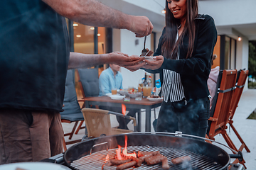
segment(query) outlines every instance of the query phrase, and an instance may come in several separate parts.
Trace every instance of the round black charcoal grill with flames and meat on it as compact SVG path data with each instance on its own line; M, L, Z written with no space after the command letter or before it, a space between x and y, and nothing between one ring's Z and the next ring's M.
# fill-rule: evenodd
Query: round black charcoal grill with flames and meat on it
M230 155L223 149L203 140L163 134L129 133L127 152L160 151L168 158L170 169L228 169ZM64 154L64 160L71 169L116 169L110 166L109 159L116 157L116 149L124 148L124 135L95 138L70 147ZM172 164L171 159L190 156L191 162ZM234 155L233 155L234 157ZM242 157L235 155L235 157ZM154 166L142 164L135 169L161 169L161 164Z

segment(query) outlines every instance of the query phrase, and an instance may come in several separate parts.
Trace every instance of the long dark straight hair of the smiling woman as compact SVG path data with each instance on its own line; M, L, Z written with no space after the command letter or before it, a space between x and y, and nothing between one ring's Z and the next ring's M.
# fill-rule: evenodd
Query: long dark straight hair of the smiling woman
M178 54L178 45L182 44L183 36L188 34L188 52L186 58L191 57L193 52L193 44L195 41L196 26L194 19L198 16L198 0L186 0L187 4L187 18L183 33L176 41L178 26L180 20L174 18L174 14L168 8L166 1L166 32L164 34L164 44L161 47L162 55L166 58L175 59Z

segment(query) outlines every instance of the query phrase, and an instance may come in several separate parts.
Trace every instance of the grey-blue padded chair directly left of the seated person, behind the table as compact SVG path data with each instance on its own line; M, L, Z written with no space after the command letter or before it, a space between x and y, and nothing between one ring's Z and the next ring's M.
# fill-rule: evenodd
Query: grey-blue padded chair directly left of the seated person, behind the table
M76 69L76 74L82 92L82 99L78 100L78 102L83 102L81 108L85 108L85 101L83 98L99 96L99 71L97 67L94 69ZM90 106L90 108L98 108L98 106ZM85 126L82 127L82 123L84 123L84 120L80 121L75 134L78 134L80 129L85 128Z

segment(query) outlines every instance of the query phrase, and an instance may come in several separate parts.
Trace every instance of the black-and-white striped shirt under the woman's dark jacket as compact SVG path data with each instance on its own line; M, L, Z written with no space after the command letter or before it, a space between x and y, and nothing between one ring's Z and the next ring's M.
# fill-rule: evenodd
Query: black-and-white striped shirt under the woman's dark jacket
M178 33L176 40L178 40ZM179 59L179 49L178 49L178 56L177 60ZM185 98L183 86L181 83L181 75L171 71L169 69L163 69L163 78L164 83L162 86L162 93L161 96L164 97L164 101L167 103L168 98L170 97L170 101L181 101Z

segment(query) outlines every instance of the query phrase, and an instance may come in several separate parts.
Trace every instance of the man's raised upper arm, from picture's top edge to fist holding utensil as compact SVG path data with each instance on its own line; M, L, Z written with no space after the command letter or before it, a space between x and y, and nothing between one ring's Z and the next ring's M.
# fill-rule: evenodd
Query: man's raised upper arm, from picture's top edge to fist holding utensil
M131 30L137 37L149 35L153 25L146 16L131 16L95 0L42 0L57 13L87 26Z

